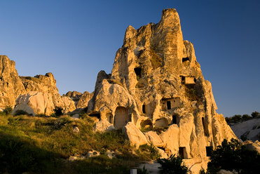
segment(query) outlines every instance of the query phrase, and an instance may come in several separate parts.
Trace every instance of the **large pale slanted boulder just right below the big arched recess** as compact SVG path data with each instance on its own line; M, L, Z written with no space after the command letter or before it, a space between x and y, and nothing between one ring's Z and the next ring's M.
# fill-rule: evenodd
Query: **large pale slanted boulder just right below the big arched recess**
M127 125L123 127L122 132L130 141L130 145L135 146L136 149L138 149L140 145L148 144L144 133L132 122L128 122Z

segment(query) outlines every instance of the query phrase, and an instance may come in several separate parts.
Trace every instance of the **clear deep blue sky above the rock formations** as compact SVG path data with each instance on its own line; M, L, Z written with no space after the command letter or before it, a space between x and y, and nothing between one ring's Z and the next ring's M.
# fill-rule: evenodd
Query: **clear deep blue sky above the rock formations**
M136 29L176 8L224 116L260 112L260 1L1 0L0 54L20 76L53 72L61 94L89 91L111 73L128 25Z

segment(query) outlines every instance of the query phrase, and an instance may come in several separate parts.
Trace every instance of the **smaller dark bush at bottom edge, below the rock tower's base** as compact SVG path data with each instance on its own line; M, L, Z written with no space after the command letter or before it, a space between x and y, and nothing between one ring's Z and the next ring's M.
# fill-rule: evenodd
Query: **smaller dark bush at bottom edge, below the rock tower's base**
M158 159L160 163L161 174L186 174L189 169L182 165L182 158L177 156L170 156L170 159Z

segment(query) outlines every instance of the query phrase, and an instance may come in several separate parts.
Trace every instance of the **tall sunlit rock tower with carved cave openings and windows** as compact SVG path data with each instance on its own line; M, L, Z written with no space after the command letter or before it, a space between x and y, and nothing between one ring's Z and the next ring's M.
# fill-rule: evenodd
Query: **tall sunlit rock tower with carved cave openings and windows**
M132 123L140 130L162 130L165 152L182 156L195 173L207 167L209 147L236 138L216 109L211 83L203 78L193 44L183 40L175 9L164 10L158 24L126 29L111 74L97 75L88 102L90 116L115 128Z

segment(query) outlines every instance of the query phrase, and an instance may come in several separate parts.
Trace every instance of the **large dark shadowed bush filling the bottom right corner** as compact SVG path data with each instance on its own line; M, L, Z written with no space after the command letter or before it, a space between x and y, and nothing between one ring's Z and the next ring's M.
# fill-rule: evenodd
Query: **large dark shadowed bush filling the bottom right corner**
M210 156L207 163L207 173L217 173L219 170L235 170L238 173L259 173L260 155L256 151L246 149L238 140L224 140Z

